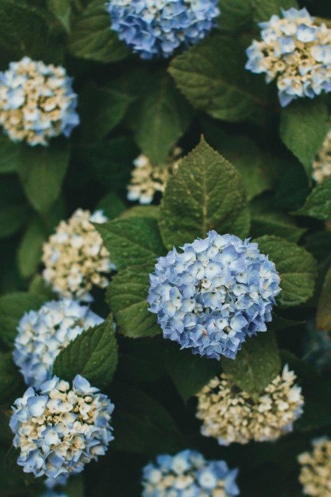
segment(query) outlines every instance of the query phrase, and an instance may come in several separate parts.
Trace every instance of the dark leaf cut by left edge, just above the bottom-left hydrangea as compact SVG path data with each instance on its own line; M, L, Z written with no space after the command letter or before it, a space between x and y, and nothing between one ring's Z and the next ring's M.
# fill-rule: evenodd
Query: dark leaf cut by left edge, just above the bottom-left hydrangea
M12 353L0 355L0 405L12 404L24 391L23 378L12 361Z

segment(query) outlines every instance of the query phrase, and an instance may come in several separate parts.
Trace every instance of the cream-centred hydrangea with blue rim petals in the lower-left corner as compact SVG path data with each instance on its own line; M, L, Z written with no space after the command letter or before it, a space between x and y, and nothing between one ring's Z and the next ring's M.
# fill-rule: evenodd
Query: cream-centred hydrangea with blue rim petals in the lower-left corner
M57 479L83 471L86 463L105 454L113 439L110 416L114 406L99 389L77 375L72 389L56 376L30 387L15 400L10 428L17 463L34 476ZM49 482L48 482L49 483Z

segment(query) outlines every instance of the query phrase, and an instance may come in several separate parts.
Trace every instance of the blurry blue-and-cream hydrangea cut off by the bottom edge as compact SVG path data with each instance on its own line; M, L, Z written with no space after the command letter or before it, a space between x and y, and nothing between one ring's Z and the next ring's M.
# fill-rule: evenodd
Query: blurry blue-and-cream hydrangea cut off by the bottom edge
M157 456L143 468L142 497L234 497L237 469L223 460L205 460L197 451Z

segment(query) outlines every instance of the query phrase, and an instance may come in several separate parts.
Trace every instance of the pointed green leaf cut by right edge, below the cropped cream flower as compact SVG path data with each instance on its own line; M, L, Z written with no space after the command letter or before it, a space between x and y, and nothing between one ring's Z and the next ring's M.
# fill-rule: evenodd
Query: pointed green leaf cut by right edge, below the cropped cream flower
M295 212L296 215L308 215L320 220L331 221L331 178L315 186L305 200L305 204Z

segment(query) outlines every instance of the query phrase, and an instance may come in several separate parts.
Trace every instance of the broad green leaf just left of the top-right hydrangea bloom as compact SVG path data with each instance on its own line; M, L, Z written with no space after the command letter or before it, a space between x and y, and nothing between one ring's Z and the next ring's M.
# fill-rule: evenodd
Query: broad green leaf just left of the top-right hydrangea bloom
M217 119L240 121L264 105L237 40L208 37L172 59L169 72L192 106Z

